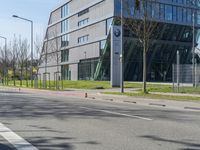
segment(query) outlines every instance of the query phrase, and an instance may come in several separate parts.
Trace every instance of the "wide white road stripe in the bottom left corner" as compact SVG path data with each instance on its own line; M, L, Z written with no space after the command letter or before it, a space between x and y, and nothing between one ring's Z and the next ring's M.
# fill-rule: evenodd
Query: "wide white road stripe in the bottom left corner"
M12 144L17 150L38 150L12 130L0 123L0 135Z

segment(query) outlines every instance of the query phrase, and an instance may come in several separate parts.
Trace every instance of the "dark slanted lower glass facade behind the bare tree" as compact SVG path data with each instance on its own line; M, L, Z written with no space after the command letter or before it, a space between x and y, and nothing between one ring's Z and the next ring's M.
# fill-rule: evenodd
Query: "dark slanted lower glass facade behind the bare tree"
M126 81L142 81L143 49L134 42L130 31L125 29L124 77ZM178 24L160 23L157 38L147 52L147 80L172 81L172 64L176 63L177 50L181 64L192 60L192 28Z

